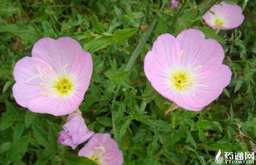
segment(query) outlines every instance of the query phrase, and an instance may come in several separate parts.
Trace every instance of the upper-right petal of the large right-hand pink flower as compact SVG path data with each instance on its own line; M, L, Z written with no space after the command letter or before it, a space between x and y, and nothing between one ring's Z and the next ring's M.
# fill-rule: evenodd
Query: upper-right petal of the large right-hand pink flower
M196 29L182 31L177 39L183 52L181 57L183 67L199 69L207 75L219 70L225 55L216 40L205 39L204 33Z

